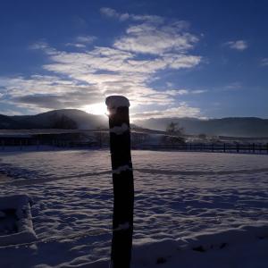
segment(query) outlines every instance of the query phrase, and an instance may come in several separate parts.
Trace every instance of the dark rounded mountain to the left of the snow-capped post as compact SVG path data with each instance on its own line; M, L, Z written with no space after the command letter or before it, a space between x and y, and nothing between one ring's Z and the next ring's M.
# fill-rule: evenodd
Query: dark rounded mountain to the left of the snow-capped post
M63 124L65 123L65 126ZM91 130L107 128L108 120L104 115L89 114L76 109L54 110L36 115L0 114L0 129L80 129Z

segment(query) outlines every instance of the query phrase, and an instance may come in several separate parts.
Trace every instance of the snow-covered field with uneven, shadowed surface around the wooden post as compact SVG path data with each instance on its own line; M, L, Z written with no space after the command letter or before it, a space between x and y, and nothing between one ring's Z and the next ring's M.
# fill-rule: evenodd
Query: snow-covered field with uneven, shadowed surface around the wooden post
M108 267L108 151L0 159L0 172L13 177L0 180L0 197L31 198L37 236L0 245L0 267ZM268 155L133 151L132 159L132 267L268 267Z

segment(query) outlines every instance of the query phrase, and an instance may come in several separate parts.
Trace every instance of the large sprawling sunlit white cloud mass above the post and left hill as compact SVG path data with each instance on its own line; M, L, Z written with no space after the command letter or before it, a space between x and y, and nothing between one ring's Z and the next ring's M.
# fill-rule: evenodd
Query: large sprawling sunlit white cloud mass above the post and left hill
M151 86L152 81L161 79L162 71L191 69L201 63L200 55L189 54L198 38L188 31L186 21L117 13L109 8L101 13L131 20L132 25L115 38L113 46L88 48L96 39L92 36L79 36L67 44L84 48L82 51L58 50L46 42L32 44L30 49L47 55L48 63L42 67L51 75L0 77L5 99L34 111L38 107L82 108L104 102L105 96L112 94L127 96L131 106L174 105L178 95L202 93L185 88L156 90ZM178 111L182 113L187 107L182 105Z

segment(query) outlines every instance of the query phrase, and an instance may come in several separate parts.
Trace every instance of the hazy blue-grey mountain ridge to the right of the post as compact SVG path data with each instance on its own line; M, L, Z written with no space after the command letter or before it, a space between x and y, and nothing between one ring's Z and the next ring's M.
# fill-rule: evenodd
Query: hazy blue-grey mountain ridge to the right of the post
M256 117L230 117L202 120L197 118L151 118L137 120L135 124L153 130L165 130L171 122L179 123L186 134L211 136L268 137L268 119Z

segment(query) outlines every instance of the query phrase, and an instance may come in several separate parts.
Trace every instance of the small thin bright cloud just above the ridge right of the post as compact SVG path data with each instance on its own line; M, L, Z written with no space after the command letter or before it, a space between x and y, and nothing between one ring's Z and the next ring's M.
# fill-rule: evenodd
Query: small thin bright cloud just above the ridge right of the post
M163 117L200 117L199 108L190 107L186 103L180 103L178 107L172 107L165 110L155 110L143 113L132 114L132 120L163 118Z

